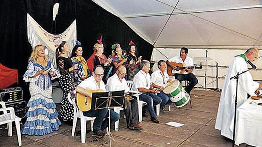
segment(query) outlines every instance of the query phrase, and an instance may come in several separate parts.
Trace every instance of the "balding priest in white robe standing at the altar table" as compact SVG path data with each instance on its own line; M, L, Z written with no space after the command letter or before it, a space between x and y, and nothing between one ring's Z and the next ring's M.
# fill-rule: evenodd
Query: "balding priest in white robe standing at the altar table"
M230 77L235 76L238 72L241 73L248 69L246 59L249 59L249 61L255 61L257 57L258 49L249 48L244 54L235 56L227 70L227 75L220 96L215 125L215 129L221 130L221 135L224 136L226 140L233 140L233 127L230 127L230 125L233 126L234 124L236 97L236 79L230 80ZM262 88L262 84L253 81L249 72L240 75L238 80L237 108L247 100L247 94L251 96L259 94L259 87Z

